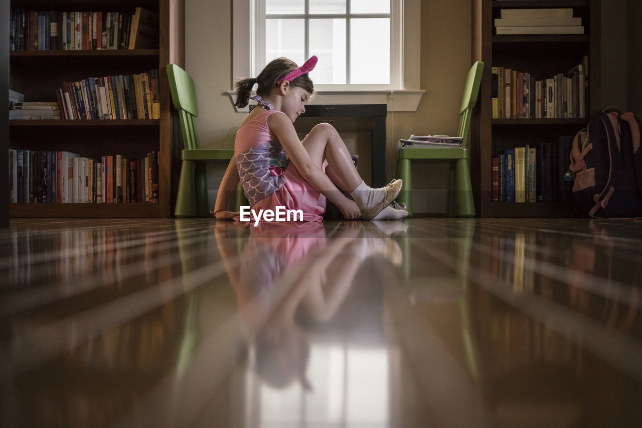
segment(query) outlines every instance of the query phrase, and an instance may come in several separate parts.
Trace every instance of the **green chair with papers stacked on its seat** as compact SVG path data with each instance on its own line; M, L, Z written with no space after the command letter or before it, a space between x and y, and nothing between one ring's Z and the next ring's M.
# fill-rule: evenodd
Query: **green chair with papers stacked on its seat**
M468 150L466 148L471 114L477 101L480 83L482 82L483 62L476 62L471 67L464 86L464 97L459 114L458 136L462 137L462 147L448 148L399 148L397 158L397 177L403 180L403 187L397 201L406 204L408 214L412 216L412 182L410 180L410 162L448 162L450 164L450 180L448 189L447 214L451 217L474 217L473 187L468 166Z

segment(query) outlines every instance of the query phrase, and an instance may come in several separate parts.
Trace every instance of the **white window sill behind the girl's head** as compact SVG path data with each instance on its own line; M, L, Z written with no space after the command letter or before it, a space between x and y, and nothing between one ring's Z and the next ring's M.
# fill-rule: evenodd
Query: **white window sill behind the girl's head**
M385 104L388 112L414 112L417 110L421 97L426 92L417 90L327 90L315 91L309 104ZM236 92L227 91L232 105L236 99ZM237 108L236 112L248 112L248 108Z

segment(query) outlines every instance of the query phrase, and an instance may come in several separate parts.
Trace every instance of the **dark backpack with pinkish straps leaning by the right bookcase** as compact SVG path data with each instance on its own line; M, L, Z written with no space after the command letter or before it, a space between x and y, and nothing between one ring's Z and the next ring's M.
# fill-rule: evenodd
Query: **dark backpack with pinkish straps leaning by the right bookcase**
M582 217L642 216L640 119L603 108L573 139L573 208Z

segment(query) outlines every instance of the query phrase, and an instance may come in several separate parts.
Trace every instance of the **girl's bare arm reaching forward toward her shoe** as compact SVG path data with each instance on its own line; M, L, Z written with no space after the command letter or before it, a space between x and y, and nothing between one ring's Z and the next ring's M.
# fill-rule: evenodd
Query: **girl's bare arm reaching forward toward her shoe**
M270 131L276 135L283 149L288 154L290 162L299 171L300 175L341 210L343 217L356 219L361 216L361 211L354 201L349 200L336 188L330 178L325 175L320 166L312 162L308 151L301 144L297 132L288 116L285 114L271 114L268 117Z

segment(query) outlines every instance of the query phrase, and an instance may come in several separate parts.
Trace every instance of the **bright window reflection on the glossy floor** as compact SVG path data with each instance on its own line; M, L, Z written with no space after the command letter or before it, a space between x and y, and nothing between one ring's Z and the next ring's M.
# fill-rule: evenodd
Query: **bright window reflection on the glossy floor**
M311 343L306 377L313 394L299 382L283 389L268 386L254 366L246 375L249 406L245 426L390 426L390 355L385 348Z

